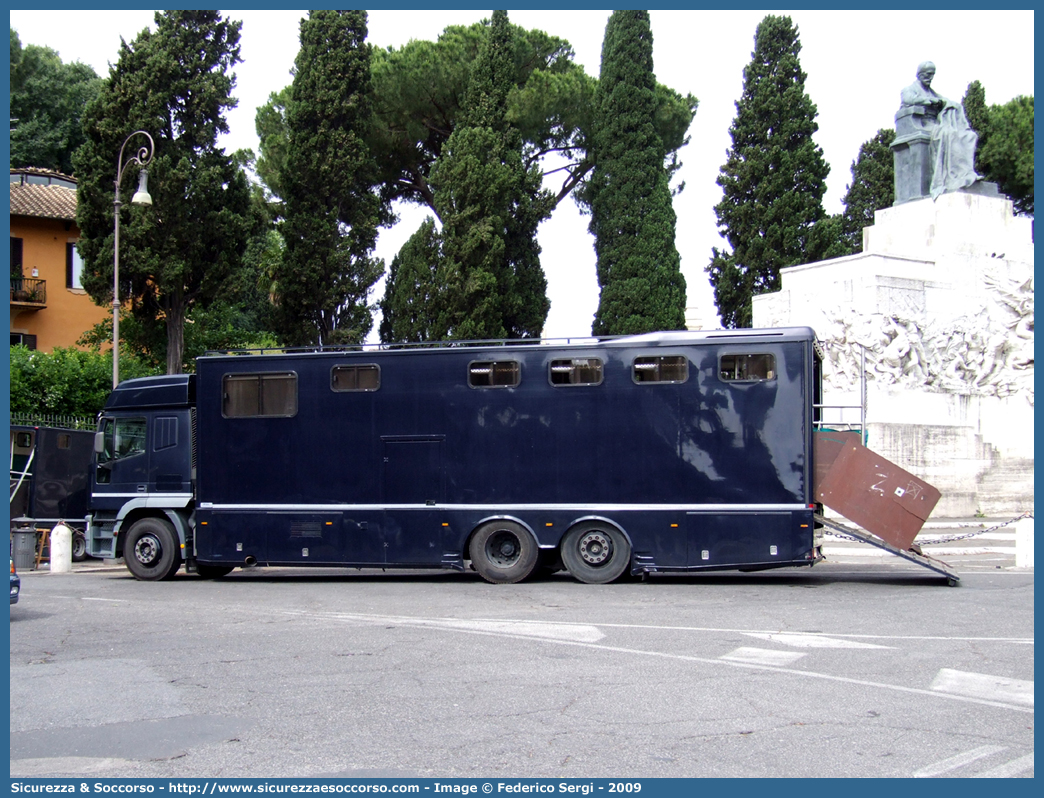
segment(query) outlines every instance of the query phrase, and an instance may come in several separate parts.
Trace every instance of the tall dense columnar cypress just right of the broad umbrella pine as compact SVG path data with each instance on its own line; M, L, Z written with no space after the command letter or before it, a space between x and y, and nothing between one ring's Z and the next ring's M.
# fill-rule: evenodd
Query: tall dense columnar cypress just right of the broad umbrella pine
M685 329L677 217L654 123L656 87L648 11L614 11L602 43L594 171L585 192L601 288L595 335Z

